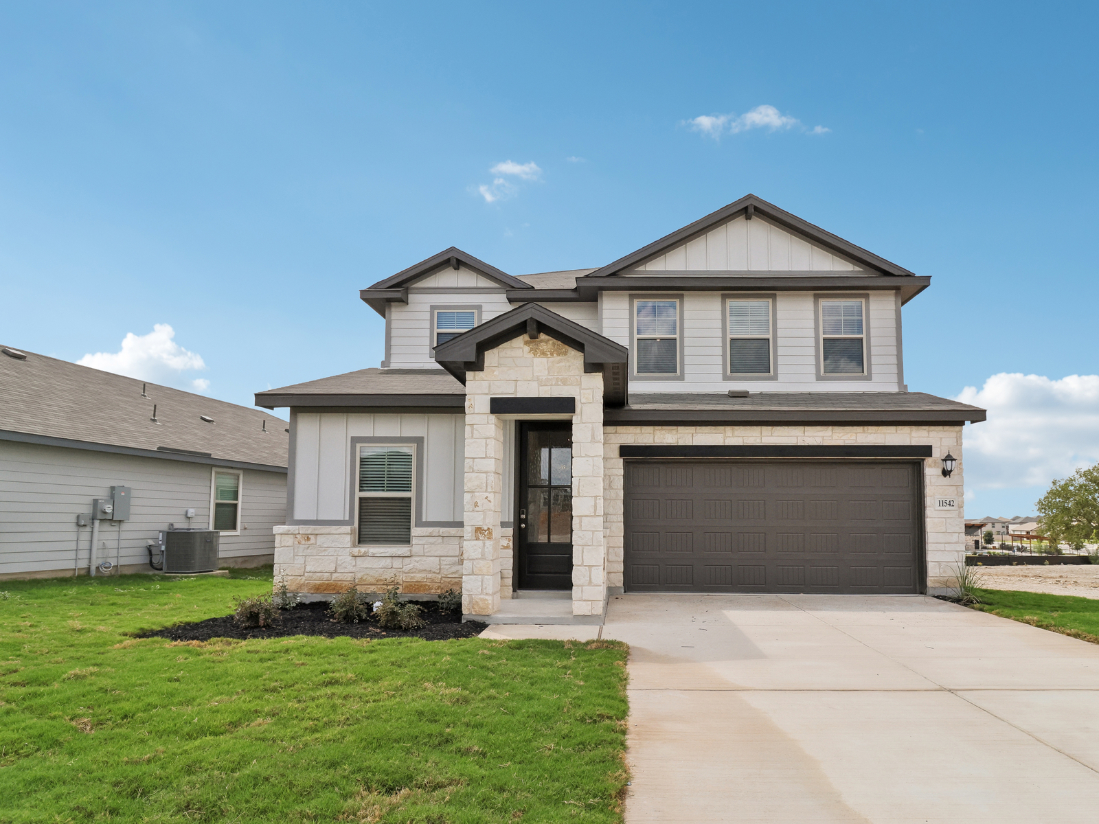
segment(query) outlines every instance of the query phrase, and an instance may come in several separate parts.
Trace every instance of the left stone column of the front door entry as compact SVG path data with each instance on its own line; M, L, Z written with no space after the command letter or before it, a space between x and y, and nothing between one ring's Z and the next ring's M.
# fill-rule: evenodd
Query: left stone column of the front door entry
M500 609L503 424L489 413L487 381L467 381L466 392L462 611L491 615Z

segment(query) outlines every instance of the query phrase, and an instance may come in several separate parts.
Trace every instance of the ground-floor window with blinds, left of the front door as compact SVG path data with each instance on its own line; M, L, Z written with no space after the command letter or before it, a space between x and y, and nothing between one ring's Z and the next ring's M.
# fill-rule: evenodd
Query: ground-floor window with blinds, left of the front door
M412 446L358 447L358 543L412 543Z

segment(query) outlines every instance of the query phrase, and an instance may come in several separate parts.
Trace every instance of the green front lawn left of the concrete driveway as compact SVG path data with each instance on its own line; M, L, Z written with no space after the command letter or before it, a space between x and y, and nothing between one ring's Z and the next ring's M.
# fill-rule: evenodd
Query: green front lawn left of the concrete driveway
M0 822L621 820L622 644L130 637L269 569L0 590Z

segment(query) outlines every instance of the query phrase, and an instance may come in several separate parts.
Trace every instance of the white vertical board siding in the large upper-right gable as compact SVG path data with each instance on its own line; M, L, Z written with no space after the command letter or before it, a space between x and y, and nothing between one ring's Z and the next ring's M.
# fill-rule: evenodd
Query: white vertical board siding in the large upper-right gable
M743 215L657 255L635 271L861 271L761 216Z

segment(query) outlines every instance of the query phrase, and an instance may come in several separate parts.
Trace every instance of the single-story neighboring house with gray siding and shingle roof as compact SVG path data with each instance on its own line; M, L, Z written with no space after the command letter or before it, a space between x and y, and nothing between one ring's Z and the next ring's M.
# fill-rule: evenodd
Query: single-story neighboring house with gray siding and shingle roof
M131 516L100 522L97 555L123 572L152 571L146 545L169 523L218 528L223 566L271 561L271 527L286 521L285 421L0 352L0 578L87 575L91 528L77 515L112 486L132 489Z

